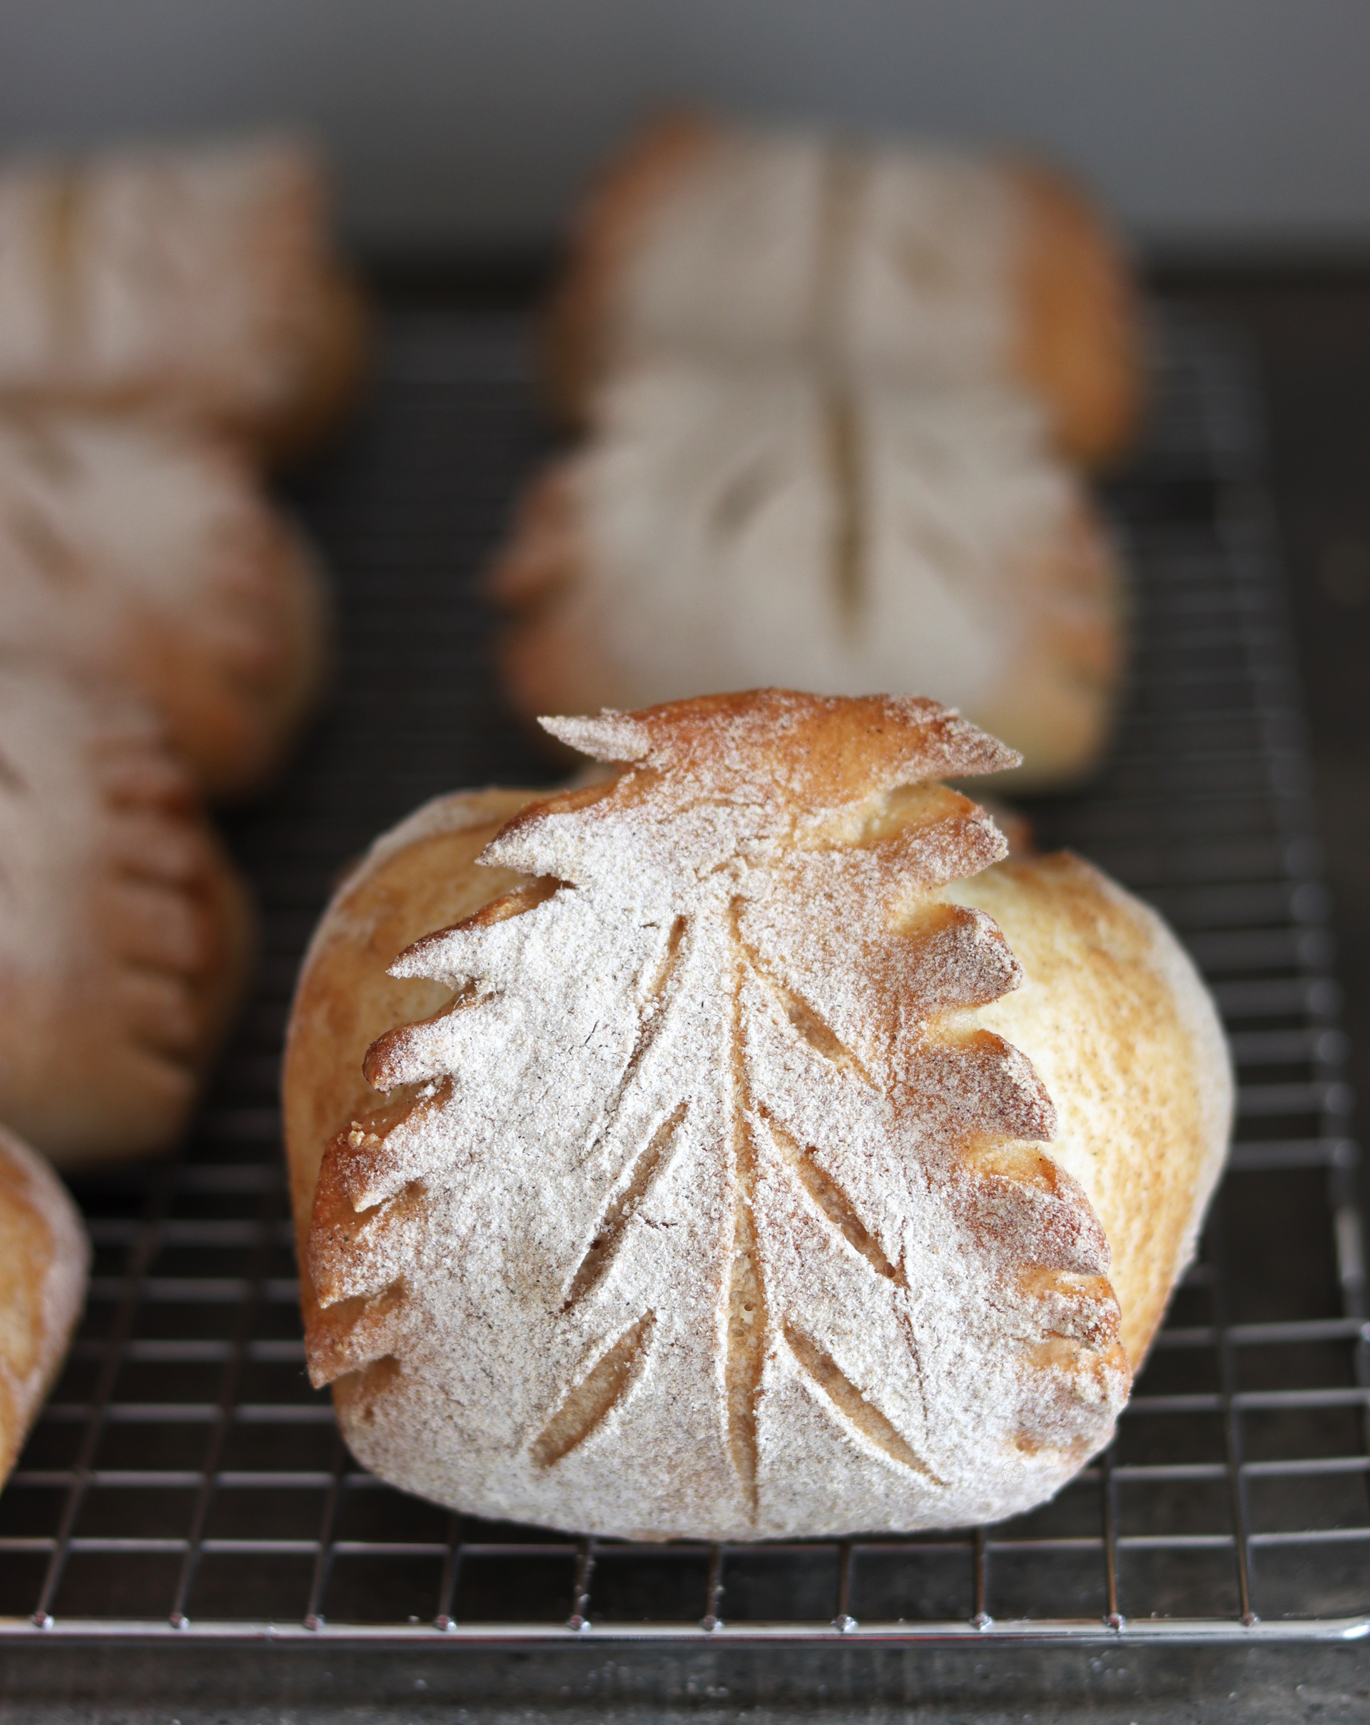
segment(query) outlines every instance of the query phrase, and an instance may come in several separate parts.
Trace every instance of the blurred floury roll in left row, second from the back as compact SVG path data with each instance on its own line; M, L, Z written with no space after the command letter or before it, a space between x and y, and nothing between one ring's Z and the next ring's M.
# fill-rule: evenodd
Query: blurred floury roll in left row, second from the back
M211 795L281 764L324 664L324 590L233 442L135 416L0 416L0 650L117 680Z

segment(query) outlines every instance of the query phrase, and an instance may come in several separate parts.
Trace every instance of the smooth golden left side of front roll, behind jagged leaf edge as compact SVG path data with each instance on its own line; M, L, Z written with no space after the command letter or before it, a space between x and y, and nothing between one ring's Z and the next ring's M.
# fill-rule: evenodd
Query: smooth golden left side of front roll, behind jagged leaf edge
M338 887L309 944L285 1045L285 1145L305 1320L309 1214L328 1140L376 1104L366 1051L399 1019L435 1013L450 988L399 982L388 968L433 928L471 916L523 876L476 868L495 833L533 794L469 790L440 797L378 838Z

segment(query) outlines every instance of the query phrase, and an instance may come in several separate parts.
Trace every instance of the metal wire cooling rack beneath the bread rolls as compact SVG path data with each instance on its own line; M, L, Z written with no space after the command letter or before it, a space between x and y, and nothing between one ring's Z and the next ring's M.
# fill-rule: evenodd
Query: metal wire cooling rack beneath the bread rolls
M393 312L373 405L299 495L338 576L336 706L231 838L262 904L242 1033L185 1156L85 1182L86 1320L0 1497L0 1634L36 1637L1351 1637L1370 1628L1356 1149L1253 371L1163 319L1111 507L1130 699L1039 804L1158 904L1241 1068L1230 1171L1111 1451L1015 1521L633 1546L454 1516L361 1471L309 1389L276 1078L338 869L421 799L535 783L474 581L538 455L514 316Z

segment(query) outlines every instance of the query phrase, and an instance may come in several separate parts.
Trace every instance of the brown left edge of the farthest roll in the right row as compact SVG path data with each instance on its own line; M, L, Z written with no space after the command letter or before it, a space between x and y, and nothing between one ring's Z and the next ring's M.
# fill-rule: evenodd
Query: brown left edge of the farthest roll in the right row
M564 269L544 324L544 373L556 411L580 423L599 380L614 302L644 219L699 162L718 128L697 114L664 114L604 164L571 231Z

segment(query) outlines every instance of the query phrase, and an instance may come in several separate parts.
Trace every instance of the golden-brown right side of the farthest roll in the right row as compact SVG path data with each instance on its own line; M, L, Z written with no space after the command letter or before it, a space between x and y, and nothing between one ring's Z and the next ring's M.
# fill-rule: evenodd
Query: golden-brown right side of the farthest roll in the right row
M1051 402L1061 448L1089 466L1120 455L1142 411L1141 316L1118 243L1056 172L1009 164L1025 217L1015 369Z

